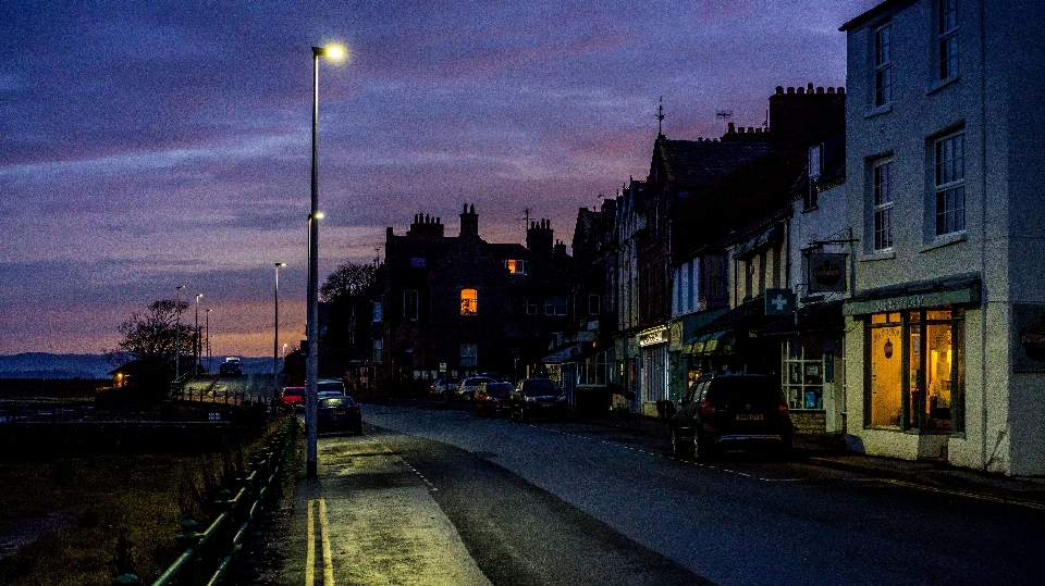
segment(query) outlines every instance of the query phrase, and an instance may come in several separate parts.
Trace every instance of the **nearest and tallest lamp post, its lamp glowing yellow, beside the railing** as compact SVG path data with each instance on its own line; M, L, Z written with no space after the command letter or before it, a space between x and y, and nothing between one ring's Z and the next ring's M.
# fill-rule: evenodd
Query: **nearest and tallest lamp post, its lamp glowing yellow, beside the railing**
M341 59L345 50L336 46L312 47L312 194L308 214L308 317L306 337L308 357L305 361L305 475L316 478L319 466L316 461L319 434L317 379L319 378L319 58Z

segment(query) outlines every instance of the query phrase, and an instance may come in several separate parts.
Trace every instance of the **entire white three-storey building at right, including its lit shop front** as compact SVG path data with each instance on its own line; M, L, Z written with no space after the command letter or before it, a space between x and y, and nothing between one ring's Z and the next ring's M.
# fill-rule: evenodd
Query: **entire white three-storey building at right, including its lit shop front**
M1043 25L1045 2L890 0L841 27L852 449L1045 474Z

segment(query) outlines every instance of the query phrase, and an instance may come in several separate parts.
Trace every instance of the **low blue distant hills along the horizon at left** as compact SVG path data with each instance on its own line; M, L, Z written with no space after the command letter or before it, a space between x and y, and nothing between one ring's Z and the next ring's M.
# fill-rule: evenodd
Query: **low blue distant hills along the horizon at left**
M214 372L224 357L213 357ZM207 360L204 359L204 365ZM0 378L109 378L113 366L101 354L52 354L23 352L0 354ZM244 358L243 372L265 374L272 372L271 358Z

